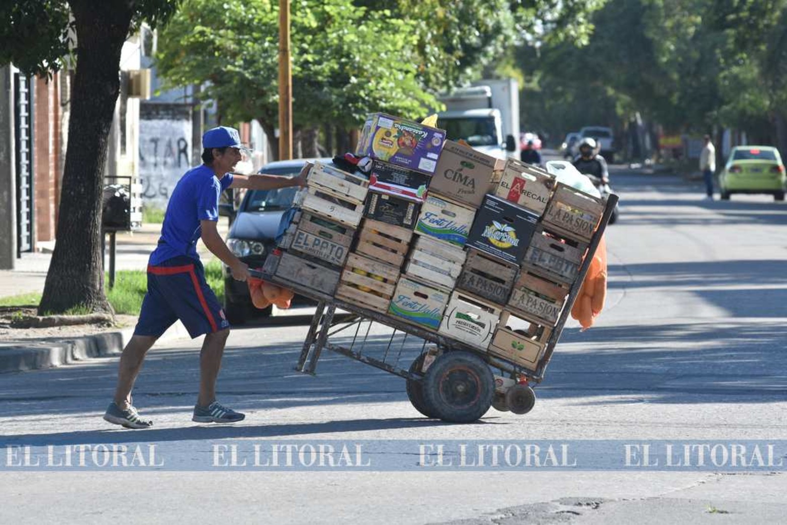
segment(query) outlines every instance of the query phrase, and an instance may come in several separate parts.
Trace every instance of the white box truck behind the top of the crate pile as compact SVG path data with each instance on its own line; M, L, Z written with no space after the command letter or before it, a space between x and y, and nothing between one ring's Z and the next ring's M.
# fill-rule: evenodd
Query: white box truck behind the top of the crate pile
M445 94L438 128L497 158L519 158L519 84L515 79L479 80Z

